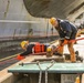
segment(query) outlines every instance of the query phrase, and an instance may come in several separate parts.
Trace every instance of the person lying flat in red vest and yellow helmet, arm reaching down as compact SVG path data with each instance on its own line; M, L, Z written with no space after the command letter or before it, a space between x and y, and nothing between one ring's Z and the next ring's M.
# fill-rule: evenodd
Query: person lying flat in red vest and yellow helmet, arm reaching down
M25 55L32 54L32 53L42 53L46 51L46 48L49 44L40 43L40 42L30 42L29 41L22 41L21 48L24 50L21 54L17 56L17 60L23 60Z

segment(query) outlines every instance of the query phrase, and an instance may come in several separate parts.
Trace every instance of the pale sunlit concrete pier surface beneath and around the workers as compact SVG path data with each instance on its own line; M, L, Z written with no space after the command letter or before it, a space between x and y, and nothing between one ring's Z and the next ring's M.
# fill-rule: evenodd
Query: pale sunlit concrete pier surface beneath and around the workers
M80 38L84 38L84 35L81 35ZM78 39L78 38L77 38ZM64 53L69 53L69 50L66 49L67 46L65 45L64 48ZM84 58L84 40L77 41L77 44L74 44L74 50L80 52L80 55ZM44 59L46 58L45 55L30 55L27 56L24 60L0 71L0 83L13 83L13 80L15 80L12 75L12 73L8 73L8 69L18 65L21 62L32 62L34 59ZM52 56L54 58L54 56ZM84 63L84 61L83 61ZM84 83L84 74L82 75L82 83Z

